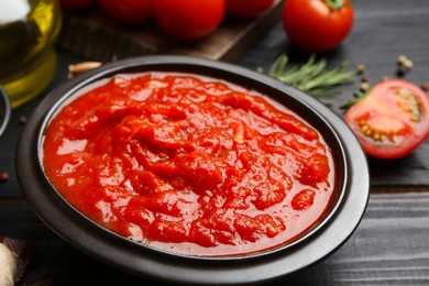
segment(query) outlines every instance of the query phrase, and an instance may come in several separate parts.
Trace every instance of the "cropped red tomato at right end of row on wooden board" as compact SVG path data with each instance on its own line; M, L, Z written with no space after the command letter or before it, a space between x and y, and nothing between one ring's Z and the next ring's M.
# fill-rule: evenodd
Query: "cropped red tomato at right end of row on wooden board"
M267 11L274 0L227 0L227 13L240 18L254 18Z

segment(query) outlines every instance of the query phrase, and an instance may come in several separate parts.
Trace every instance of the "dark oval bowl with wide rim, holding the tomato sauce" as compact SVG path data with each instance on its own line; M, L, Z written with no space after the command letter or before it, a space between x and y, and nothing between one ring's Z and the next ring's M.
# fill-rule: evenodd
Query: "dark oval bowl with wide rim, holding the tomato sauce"
M305 118L324 138L336 165L333 202L326 218L293 243L255 255L205 257L148 248L120 237L82 216L46 179L40 162L41 141L53 114L80 89L118 74L187 73L220 78L270 95ZM37 216L64 240L125 272L183 284L246 285L287 277L338 250L359 226L369 199L366 157L343 120L301 91L237 65L185 56L145 56L102 65L53 90L37 107L22 133L18 178Z

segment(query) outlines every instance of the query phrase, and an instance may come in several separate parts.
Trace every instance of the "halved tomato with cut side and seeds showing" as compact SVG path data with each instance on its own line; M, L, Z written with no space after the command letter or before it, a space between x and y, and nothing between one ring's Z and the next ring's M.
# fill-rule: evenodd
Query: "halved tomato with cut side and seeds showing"
M388 79L377 84L344 116L365 153L378 158L410 154L429 135L429 97L415 84Z

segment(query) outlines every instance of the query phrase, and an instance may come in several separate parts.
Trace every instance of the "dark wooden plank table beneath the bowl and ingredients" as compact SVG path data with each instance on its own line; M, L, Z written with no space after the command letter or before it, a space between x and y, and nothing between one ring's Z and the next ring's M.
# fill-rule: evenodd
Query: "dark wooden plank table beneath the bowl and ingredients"
M395 77L396 58L406 55L415 67L406 79L429 81L429 1L355 1L354 28L346 41L321 56L334 66L348 61L364 64L371 84ZM282 53L296 63L308 54L295 50L280 23L238 64L265 70ZM0 139L0 172L10 174L0 183L0 235L34 245L31 270L54 278L55 285L151 284L87 256L45 227L22 197L14 174L15 144L40 100L67 80L67 66L81 56L58 48L58 73L38 99L13 110L6 134ZM0 67L1 68L1 67ZM331 97L332 110L351 99L358 84L342 87ZM397 161L369 160L371 198L365 216L352 238L317 266L277 285L429 285L429 143Z

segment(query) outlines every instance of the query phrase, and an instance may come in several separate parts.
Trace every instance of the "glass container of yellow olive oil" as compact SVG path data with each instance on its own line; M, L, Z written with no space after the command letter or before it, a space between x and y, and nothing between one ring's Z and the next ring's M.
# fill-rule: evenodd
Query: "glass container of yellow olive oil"
M12 107L36 97L52 80L61 24L56 0L0 0L0 85Z

